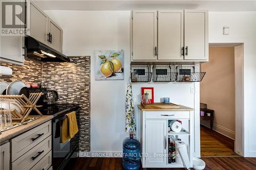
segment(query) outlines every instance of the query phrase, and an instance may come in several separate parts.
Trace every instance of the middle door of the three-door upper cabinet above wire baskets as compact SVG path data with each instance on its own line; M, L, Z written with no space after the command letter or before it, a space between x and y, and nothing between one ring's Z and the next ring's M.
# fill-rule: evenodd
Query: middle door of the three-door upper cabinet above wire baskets
M158 60L183 60L184 11L158 11Z

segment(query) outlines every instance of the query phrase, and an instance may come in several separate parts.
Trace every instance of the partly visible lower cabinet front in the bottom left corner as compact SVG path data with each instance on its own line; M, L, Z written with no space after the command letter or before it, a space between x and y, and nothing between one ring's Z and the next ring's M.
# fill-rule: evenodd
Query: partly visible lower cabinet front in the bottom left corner
M10 169L10 143L0 146L0 170Z

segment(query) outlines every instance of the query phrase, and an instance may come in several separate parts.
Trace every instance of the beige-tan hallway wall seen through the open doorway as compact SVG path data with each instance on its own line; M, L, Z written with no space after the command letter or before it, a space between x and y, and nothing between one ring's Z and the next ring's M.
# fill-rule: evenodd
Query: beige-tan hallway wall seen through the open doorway
M235 75L234 47L210 46L209 62L202 64L206 75L200 82L200 102L213 109L213 130L235 139ZM201 117L201 124L209 127L209 118Z

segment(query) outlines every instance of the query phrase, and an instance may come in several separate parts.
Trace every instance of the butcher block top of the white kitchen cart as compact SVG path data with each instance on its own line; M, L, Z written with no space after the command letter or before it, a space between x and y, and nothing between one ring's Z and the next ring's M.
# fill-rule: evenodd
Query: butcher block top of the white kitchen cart
M167 105L173 105L170 106L168 108ZM141 111L194 111L193 108L189 108L186 106L182 106L182 105L176 105L176 104L163 104L163 103L159 103L159 104L150 104L150 105L138 105L138 108Z

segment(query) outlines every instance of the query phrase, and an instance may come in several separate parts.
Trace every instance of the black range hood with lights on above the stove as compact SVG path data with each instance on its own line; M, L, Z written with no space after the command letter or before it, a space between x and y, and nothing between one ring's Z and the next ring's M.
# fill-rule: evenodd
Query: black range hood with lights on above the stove
M67 56L30 36L25 37L25 45L28 58L51 62L70 62Z

